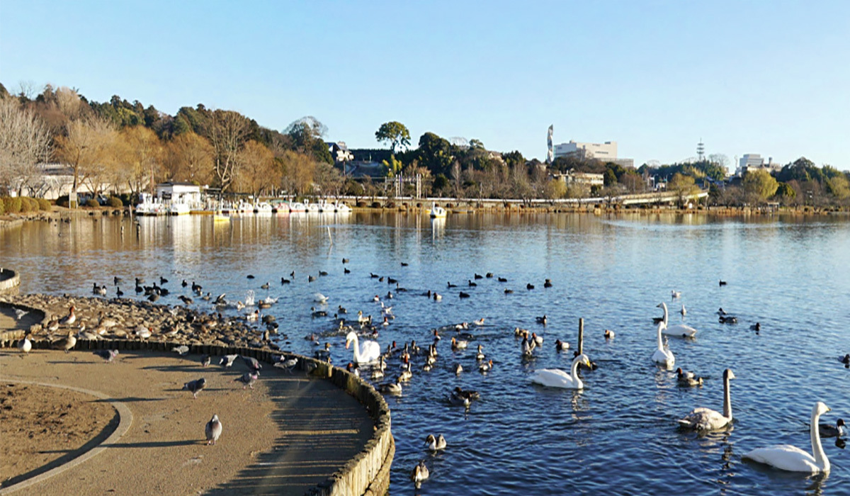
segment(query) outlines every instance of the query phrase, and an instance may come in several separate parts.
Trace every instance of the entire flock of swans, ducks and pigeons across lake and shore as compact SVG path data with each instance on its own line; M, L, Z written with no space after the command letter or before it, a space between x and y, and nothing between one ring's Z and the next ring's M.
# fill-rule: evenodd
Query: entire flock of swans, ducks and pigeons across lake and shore
M347 266L348 259L343 259L343 270L344 274L348 275L351 271ZM406 264L402 264L402 266L406 266ZM320 271L318 277L326 276L326 271ZM309 275L307 277L307 282L314 282L318 277L313 275ZM418 345L416 340L411 340L409 343L405 343L403 345L397 345L395 341L392 344L388 345L386 350L381 349L381 346L378 345L377 341L371 340L375 339L378 336L379 328L386 328L386 326L391 324L391 321L395 319L393 306L388 305L394 298L394 292L396 294L406 292L405 288L400 287L399 280L393 277L382 277L375 273L370 273L369 277L377 279L378 282L386 281L390 286L390 290L385 296L380 296L379 294L374 295L373 297L368 298L372 303L380 305L380 315L382 317L380 322L373 322L371 315L364 315L363 311L358 311L356 318L348 319L348 311L346 311L342 305L337 306L336 311L332 312L327 310L327 305L329 302L329 298L323 294L315 293L313 295L313 301L310 312L311 316L314 318L322 318L331 316L334 318L334 325L331 331L328 331L325 335L330 336L345 336L345 347L346 349L353 348L351 362L348 363L346 368L349 372L355 373L357 375L363 374L365 379L371 379L377 385L377 389L382 391L385 395L400 395L402 394L405 384L414 379L414 362L421 362L417 369L421 371L420 373L428 373L435 365L440 356L439 353L439 343L442 339L442 334L450 334L453 333L448 339L450 342L451 351L462 351L469 346L469 342L475 337L473 334L470 334L470 330L483 326L484 325L484 317L481 317L477 320L469 322L461 322L457 324L452 324L448 326L443 326L441 328L433 328L428 331L428 336L426 341L430 341L428 345ZM474 288L478 286L480 279L493 279L495 276L492 273L487 273L482 276L479 274L474 274L472 279L467 279L467 288ZM249 275L249 279L253 279L254 277ZM289 278L281 277L280 284L286 285L292 283L295 280L295 272L292 271L289 275ZM507 282L507 278L505 277L497 277L496 281L498 282ZM116 294L119 296L122 294L119 289L119 284L122 282L120 277L115 277L113 280L116 287ZM163 285L167 283L167 279L161 277L159 280L159 285L154 282L150 287L144 286L142 284L141 279L137 278L135 281L135 292L140 296L144 294L144 297L150 299L151 301L156 301L156 299L162 295L166 295L167 289L163 288ZM186 281L182 282L182 287L187 288L189 283ZM720 286L723 287L726 285L726 282L721 281ZM552 288L553 282L550 279L546 279L543 283L544 288ZM260 288L269 289L269 282L263 283ZM452 284L451 282L447 283L447 288L457 288L456 284ZM535 285L531 282L528 282L525 285L527 291L532 291L535 288ZM513 293L513 290L510 288L504 288L504 292L506 294ZM98 295L105 295L106 289L105 286L99 286L97 283L94 283L93 293ZM267 298L260 300L259 302L252 301L253 295L249 294L246 299L246 303L241 301L231 304L225 300L225 295L222 294L218 296L216 299L212 299L212 295L207 293L203 293L203 288L195 282L191 284L191 295L196 297L201 297L206 301L211 301L212 305L215 305L218 308L227 307L231 309L235 309L236 311L245 311L243 318L248 322L254 321L263 321L263 325L266 326L266 333L269 331L274 331L275 334L277 332L277 324L274 322L274 318L267 319L265 317L261 317L260 308L268 309L271 305L273 305L277 299ZM443 294L439 294L436 291L428 290L425 293L422 293L422 296L427 297L428 299L433 299L435 301L439 301L443 299ZM457 297L458 298L468 298L470 294L465 293L463 291L458 290ZM681 298L681 293L677 291L672 291L672 299L677 300ZM184 305L192 305L194 303L194 299L188 294L181 294L178 296ZM653 322L655 322L655 338L656 338L656 347L655 351L651 356L652 362L660 365L663 368L671 369L674 367L676 363L676 357L673 355L673 352L670 350L669 346L666 344L666 338L677 338L677 339L691 339L696 336L698 333L696 328L693 328L684 323L671 323L669 311L666 303L662 302L657 305L663 311L663 316L654 317ZM256 309L247 308L246 307L258 307ZM50 330L56 331L59 327L71 328L71 325L75 322L76 316L74 313L74 307L71 306L71 309L68 315L62 317L61 319L57 319L55 322L51 322ZM681 307L681 311L679 311L681 315L684 317L687 315L687 310L684 305ZM721 323L734 324L737 323L738 320L735 316L728 314L726 311L723 311L723 308L717 311L718 320ZM19 316L20 318L20 316ZM218 318L221 318L220 313ZM547 326L548 318L546 315L537 316L536 322L537 325ZM109 319L105 316L101 316L101 320L99 322L99 327L109 327L110 325L114 325L114 323L109 322ZM761 324L756 322L751 326L752 330L755 330L757 333L761 331ZM144 339L146 329L137 329L135 332L139 338ZM514 336L519 340L519 353L524 358L531 358L535 356L535 353L538 349L541 349L543 345L543 337L537 335L536 332L529 331L524 328L514 328L513 329ZM150 334L147 334L150 336ZM268 334L266 334L268 335ZM614 339L615 333L608 329L605 330L604 334L605 339ZM319 336L316 334L308 334L305 336L306 339L309 339L314 343L314 345L320 346ZM76 337L73 334L73 329L68 332L67 336L62 337L61 339L57 339L54 342L54 347L58 349L64 349L65 351L71 350L76 343ZM31 349L31 344L28 339L22 339L19 343L19 347L21 351L27 352ZM565 341L561 341L560 339L556 340L554 343L556 352L563 352L570 350L570 344ZM589 356L584 352L581 352L581 344L577 346L579 350L576 350L574 353L573 360L570 364L569 371L562 370L559 368L541 368L537 369L533 373L530 374L530 381L536 385L542 385L551 388L563 388L563 389L571 389L571 390L581 390L585 383L581 378L581 370L592 370L596 368L596 364L591 362ZM180 352L180 350L175 349L175 351ZM188 351L188 349L187 349ZM103 357L106 362L111 362L112 359L116 356L117 351L97 351L95 352L99 356ZM325 343L323 348L315 351L314 355L322 360L331 361L331 344L329 342ZM236 356L228 356L222 359L222 365L228 367L235 360ZM477 352L475 353L475 365L473 369L477 369L480 373L488 373L490 370L496 366L492 359L488 358L484 354L484 346L479 344L477 345ZM234 379L235 381L239 381L243 384L243 389L246 387L253 387L253 383L258 380L259 377L259 368L261 368L260 364L256 362L256 360L249 359L247 357L243 357L246 361L246 365L250 369L248 373L245 373L242 377ZM209 357L204 357L204 365L209 363ZM839 360L845 364L845 366L850 367L850 354L839 358ZM275 364L280 368L285 368L286 370L291 370L292 367L297 363L297 359L290 359L286 362L281 362L279 364ZM462 363L455 363L451 369L456 373L456 375L460 376L467 369L472 368L467 364L467 368L464 368ZM390 374L389 371L396 369L398 370L397 374ZM363 372L365 370L365 372ZM677 383L682 386L701 386L703 385L704 378L698 376L694 372L688 372L683 370L682 368L677 368ZM382 379L386 379L382 382ZM717 412L716 410L710 408L694 408L693 411L684 415L681 419L678 420L679 427L686 430L696 430L699 432L707 432L712 430L723 430L728 428L734 421L733 413L732 413L732 402L730 395L730 381L735 379L735 375L731 369L726 369L723 371L723 412ZM184 385L184 389L192 392L193 396L196 396L199 391L204 389L206 385L205 379L196 379L194 381L190 381ZM461 386L456 386L450 391L447 391L446 402L450 405L462 406L465 408L469 408L472 402L480 398L480 393L478 391L472 390L464 390ZM772 446L768 448L757 448L751 450L749 453L745 453L745 459L751 459L757 461L762 464L772 465L780 470L790 470L790 471L802 471L808 473L822 473L828 472L830 470L830 462L827 458L824 448L821 444L820 438L826 436L843 436L844 435L844 421L842 419L838 419L836 425L826 425L820 424L819 418L824 413L830 411L823 402L817 402L811 412L810 418L810 440L812 445L812 453L808 453L799 448L790 446L790 445L778 445ZM217 416L213 416L209 423L207 423L207 440L208 442L214 443L215 440L218 439L221 433L221 423ZM425 437L425 444L427 448L431 452L441 451L447 448L448 443L445 440L445 437L442 434L434 436L433 434L428 434ZM411 471L411 481L415 482L418 486L421 482L428 479L429 471L428 467L425 464L425 460L422 459L420 463L418 463L414 469Z

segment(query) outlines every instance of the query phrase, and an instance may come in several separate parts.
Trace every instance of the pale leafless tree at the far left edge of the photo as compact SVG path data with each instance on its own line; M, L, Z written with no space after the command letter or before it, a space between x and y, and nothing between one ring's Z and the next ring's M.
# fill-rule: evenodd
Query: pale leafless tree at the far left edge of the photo
M42 120L17 100L0 100L0 186L11 186L19 195L25 187L36 190L42 175L38 163L49 154L50 133Z

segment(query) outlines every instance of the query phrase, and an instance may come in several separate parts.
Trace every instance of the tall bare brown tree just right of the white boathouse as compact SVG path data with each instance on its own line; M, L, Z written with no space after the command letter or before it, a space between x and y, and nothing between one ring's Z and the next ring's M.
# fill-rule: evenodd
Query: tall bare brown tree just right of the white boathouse
M215 110L210 112L205 129L212 145L212 172L227 191L239 166L239 152L248 134L248 120L239 112Z

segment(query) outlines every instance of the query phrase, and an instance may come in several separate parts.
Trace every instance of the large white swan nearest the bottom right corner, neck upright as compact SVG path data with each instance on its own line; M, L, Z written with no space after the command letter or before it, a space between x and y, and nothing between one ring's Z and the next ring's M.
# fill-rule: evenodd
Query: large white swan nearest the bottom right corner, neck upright
M818 432L818 419L822 413L829 412L830 408L824 402L817 402L812 408L811 426L809 436L812 438L812 454L806 453L796 446L789 444L778 444L767 448L757 448L750 453L745 453L745 459L751 459L758 463L772 465L779 470L791 472L808 472L817 474L830 471L830 460L826 458L824 447L820 444L820 433Z

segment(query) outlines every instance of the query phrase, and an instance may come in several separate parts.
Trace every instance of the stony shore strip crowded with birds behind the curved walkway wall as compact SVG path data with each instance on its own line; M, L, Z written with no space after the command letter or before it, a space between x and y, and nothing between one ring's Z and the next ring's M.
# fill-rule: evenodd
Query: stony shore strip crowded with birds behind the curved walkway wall
M271 336L277 334L273 316L265 316L267 322L261 322L261 325L266 325L262 326L263 330L257 330L236 317L126 298L20 294L0 296L0 304L3 303L6 304L4 306L11 305L43 316L40 322L29 326L29 332L35 339L58 338L72 332L78 339L128 339L173 345L279 350L271 341ZM76 322L56 328L58 322L55 321L67 316L71 306L74 307ZM29 322L33 322L32 317ZM0 339L20 339L26 332L26 329L8 331L0 335Z

